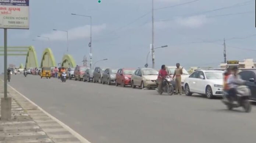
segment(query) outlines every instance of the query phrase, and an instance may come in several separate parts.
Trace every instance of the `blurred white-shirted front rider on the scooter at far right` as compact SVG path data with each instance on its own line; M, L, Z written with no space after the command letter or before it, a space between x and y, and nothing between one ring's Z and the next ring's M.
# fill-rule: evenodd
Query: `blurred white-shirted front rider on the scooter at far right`
M237 87L239 84L245 84L245 80L242 80L239 75L237 75L238 67L232 68L232 74L227 78L227 98L230 100L237 95Z

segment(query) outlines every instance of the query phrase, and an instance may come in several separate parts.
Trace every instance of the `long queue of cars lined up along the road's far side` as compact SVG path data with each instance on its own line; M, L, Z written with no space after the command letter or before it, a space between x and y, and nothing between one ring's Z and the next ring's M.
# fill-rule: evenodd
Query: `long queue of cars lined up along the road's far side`
M174 74L176 67L166 66L168 74ZM187 96L192 94L205 95L207 98L223 96L223 74L224 71L218 70L198 70L191 75L183 68L181 76L182 89ZM256 69L240 71L238 73L252 93L252 100L256 101ZM69 68L67 71L68 79L75 79L83 82L102 83L115 86L131 86L141 89L155 89L157 87L158 70L152 68L102 68L77 66ZM171 81L175 87L175 78Z

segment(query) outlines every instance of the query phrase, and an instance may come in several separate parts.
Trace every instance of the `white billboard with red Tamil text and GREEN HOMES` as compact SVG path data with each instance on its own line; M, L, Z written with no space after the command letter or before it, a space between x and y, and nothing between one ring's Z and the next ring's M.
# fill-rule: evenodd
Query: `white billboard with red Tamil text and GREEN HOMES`
M29 0L0 0L0 28L29 29Z

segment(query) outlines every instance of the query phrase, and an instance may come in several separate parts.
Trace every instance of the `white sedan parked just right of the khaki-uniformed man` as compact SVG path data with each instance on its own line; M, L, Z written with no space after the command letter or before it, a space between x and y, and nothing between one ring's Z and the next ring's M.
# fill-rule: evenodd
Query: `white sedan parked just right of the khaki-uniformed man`
M206 95L207 98L223 96L223 74L224 71L198 70L185 79L185 94L191 96L193 93Z

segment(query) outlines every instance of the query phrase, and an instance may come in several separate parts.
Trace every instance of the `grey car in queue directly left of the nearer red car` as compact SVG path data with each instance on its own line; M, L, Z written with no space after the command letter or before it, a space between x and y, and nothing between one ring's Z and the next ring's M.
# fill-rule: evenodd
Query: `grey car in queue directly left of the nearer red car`
M115 74L117 73L117 70L118 69L107 68L102 74L102 84L115 84Z

